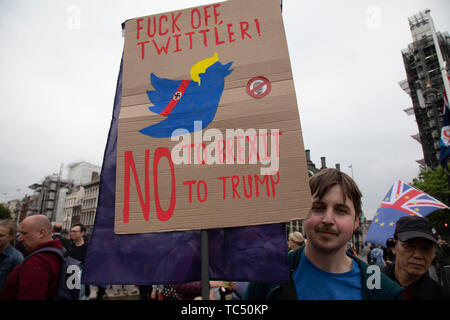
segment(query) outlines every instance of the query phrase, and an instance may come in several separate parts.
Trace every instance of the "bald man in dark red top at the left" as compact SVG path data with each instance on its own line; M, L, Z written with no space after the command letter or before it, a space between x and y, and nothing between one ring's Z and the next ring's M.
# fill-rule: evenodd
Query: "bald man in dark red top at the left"
M19 241L27 255L44 247L62 250L61 242L52 239L52 225L44 215L25 218L19 226ZM61 258L52 252L39 252L19 264L6 279L0 300L47 300L58 286ZM20 277L19 277L20 271Z

